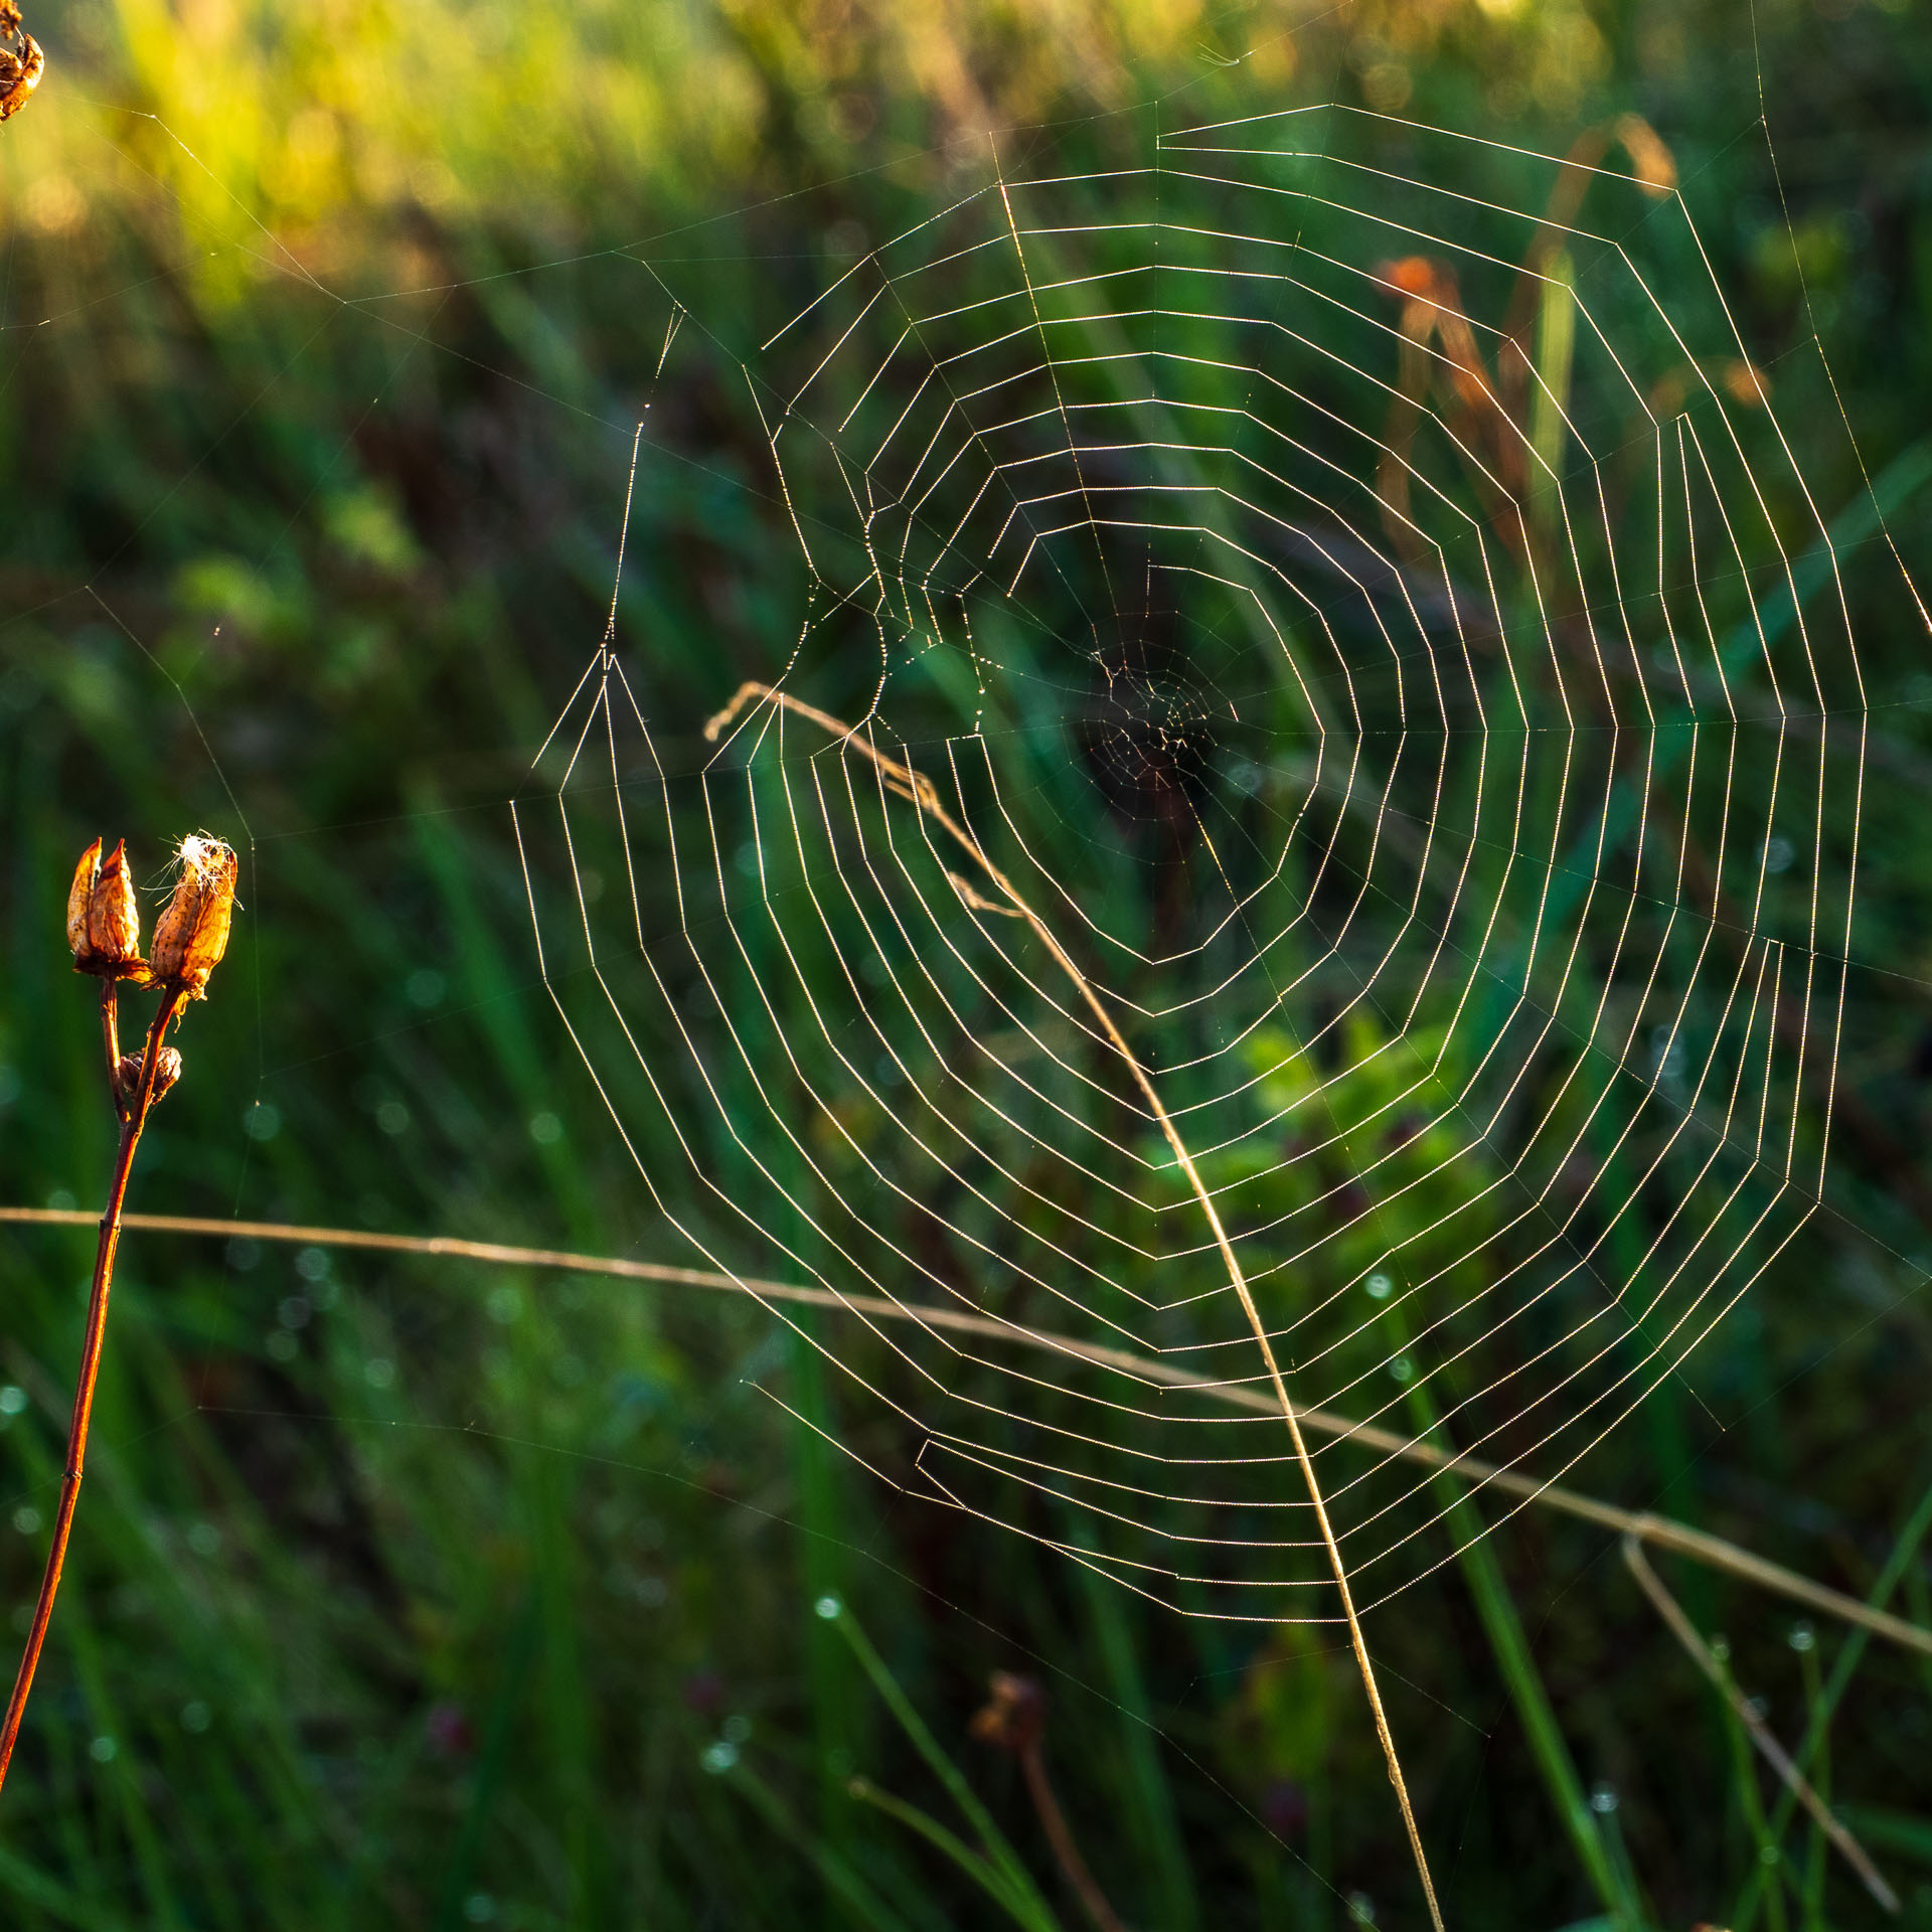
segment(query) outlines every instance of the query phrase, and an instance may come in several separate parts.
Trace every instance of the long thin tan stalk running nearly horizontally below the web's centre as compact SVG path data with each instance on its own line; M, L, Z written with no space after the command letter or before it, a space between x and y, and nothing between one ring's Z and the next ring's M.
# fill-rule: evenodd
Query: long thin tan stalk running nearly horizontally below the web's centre
M21 1227L87 1227L95 1221L83 1208L0 1208L0 1225ZM1202 1381L1184 1368L1175 1368L1155 1356L1134 1354L1130 1349L1109 1349L1105 1343L1082 1341L1076 1335L1061 1335L1053 1329L1024 1327L1018 1321L997 1321L991 1316L968 1314L962 1308L939 1308L931 1302L895 1302L883 1294L840 1294L833 1289L808 1289L796 1281L765 1281L757 1275L721 1275L709 1267L678 1267L670 1262L634 1262L622 1254L580 1254L574 1248L524 1248L502 1240L464 1240L456 1235L383 1235L361 1227L311 1227L301 1221L226 1221L216 1215L182 1213L129 1213L122 1215L124 1229L147 1235L205 1235L214 1240L272 1240L298 1248L350 1248L363 1254L419 1254L431 1260L483 1262L489 1267L545 1267L566 1275L603 1275L614 1281L653 1281L661 1287L705 1289L715 1294L748 1294L757 1302L786 1302L804 1308L831 1308L844 1314L866 1316L879 1321L908 1321L925 1329L947 1329L954 1335L978 1335L987 1341L1016 1343L1022 1349L1039 1349L1049 1354L1066 1356L1078 1362L1092 1362L1095 1368L1117 1370L1138 1381L1159 1383L1167 1389L1186 1389L1208 1401L1223 1403L1229 1408L1252 1408L1273 1414L1269 1397L1258 1395L1225 1381ZM1861 1604L1843 1590L1816 1582L1799 1571L1772 1563L1743 1544L1733 1544L1710 1530L1694 1530L1689 1522L1673 1517L1656 1517L1650 1511L1619 1509L1602 1497L1584 1495L1582 1490L1567 1490L1557 1482L1542 1482L1515 1468L1486 1463L1476 1455L1453 1455L1434 1443L1414 1441L1397 1435L1393 1430L1378 1428L1374 1422L1356 1422L1352 1416L1337 1414L1329 1408L1304 1408L1302 1428L1318 1435L1339 1437L1372 1449L1378 1455L1399 1457L1405 1463L1418 1463L1424 1468L1453 1468L1472 1488L1499 1490L1505 1495L1536 1503L1540 1509L1553 1509L1557 1515L1575 1517L1580 1522L1594 1522L1619 1536L1634 1536L1656 1549L1673 1549L1677 1555L1706 1569L1721 1571L1739 1582L1748 1582L1772 1596L1804 1604L1826 1617L1859 1625L1886 1642L1899 1644L1932 1658L1932 1631L1905 1617Z

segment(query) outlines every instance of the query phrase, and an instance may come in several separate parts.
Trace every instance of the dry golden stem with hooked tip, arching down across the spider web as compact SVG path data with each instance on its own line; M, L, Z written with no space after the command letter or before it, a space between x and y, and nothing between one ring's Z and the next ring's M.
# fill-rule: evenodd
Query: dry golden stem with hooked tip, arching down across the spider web
M1121 1057L1121 1063L1132 1076L1134 1086L1140 1088L1140 1095L1148 1103L1148 1111L1159 1126L1161 1138L1175 1155L1175 1165L1186 1177L1188 1188L1194 1192L1194 1200L1200 1204L1200 1209L1208 1219L1215 1250L1221 1256L1221 1265L1227 1269L1229 1285L1235 1289L1240 1310L1248 1318L1248 1331L1254 1335L1254 1343L1262 1352L1262 1364L1267 1370L1267 1383L1273 1389L1281 1420L1289 1428L1294 1461L1300 1464L1302 1480L1308 1484L1308 1501L1314 1505L1316 1528L1321 1534L1321 1548L1327 1553L1329 1577L1335 1582L1335 1592L1341 1598L1343 1619L1349 1625L1349 1644L1354 1650L1356 1669L1362 1673L1362 1689L1368 1692L1368 1708L1376 1721L1376 1737L1381 1743L1381 1756L1389 1768L1389 1783L1395 1787L1395 1803L1403 1812L1403 1830L1408 1833L1408 1851L1416 1861L1416 1876L1422 1880L1422 1893L1428 1899L1430 1924L1435 1932L1443 1932L1443 1915L1435 1901L1435 1882L1430 1878L1428 1853L1422 1849L1422 1832L1416 1826L1414 1806L1408 1803L1408 1781L1403 1777L1403 1760L1395 1748L1395 1733L1389 1729L1389 1716L1381 1708L1381 1689L1376 1683L1376 1665L1368 1654L1362 1621L1354 1609L1354 1592L1349 1586L1349 1567L1343 1563L1341 1544L1335 1536L1335 1526L1329 1522L1327 1499L1321 1493L1321 1482L1316 1476L1314 1457L1308 1453L1308 1443L1302 1435L1300 1416L1293 1397L1289 1395L1289 1383L1281 1372L1281 1364L1275 1358L1275 1345L1269 1341L1267 1325L1262 1321L1262 1312L1254 1304L1254 1294L1248 1289L1248 1277L1242 1273L1240 1262L1235 1256L1235 1244L1227 1238L1227 1229L1221 1225L1221 1213L1213 1204L1213 1196L1208 1192L1208 1184L1202 1180L1200 1169L1194 1165L1194 1155L1188 1151L1186 1142L1180 1138L1180 1130L1167 1113L1151 1076L1146 1066L1140 1065L1140 1057L1134 1049L1126 1043L1126 1036L1119 1026L1115 1026L1113 1014L1094 989L1094 983L1074 964L1072 956L1053 935L1047 922L1026 902L1020 889L999 869L999 866L993 864L993 858L980 844L980 840L958 819L954 819L952 813L947 811L931 779L916 771L912 765L887 757L875 744L871 744L869 738L862 738L850 724L840 723L829 711L819 711L817 705L808 705L769 684L740 684L732 694L730 703L705 724L705 738L715 740L748 703L769 703L815 724L829 738L835 738L842 750L866 759L879 773L879 779L891 792L908 800L923 817L937 825L974 862L974 866L980 867L981 875L999 893L999 898L1005 900L1005 904L1010 906L1028 927L1032 927L1034 937L1047 949L1047 954L1066 976L1066 981L1080 995L1082 1005L1094 1014L1094 1020L1107 1037L1107 1043ZM972 898L978 896L978 893L972 895Z

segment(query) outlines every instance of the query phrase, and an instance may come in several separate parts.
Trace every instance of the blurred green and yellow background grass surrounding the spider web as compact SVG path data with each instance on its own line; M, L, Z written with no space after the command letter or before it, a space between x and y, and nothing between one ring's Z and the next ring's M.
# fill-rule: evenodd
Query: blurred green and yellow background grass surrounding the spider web
M1227 112L1333 95L1561 147L1634 106L1708 211L1789 413L1830 408L1797 354L1731 8L122 0L29 23L50 75L0 131L14 1202L89 1204L106 1171L91 1003L60 945L73 854L126 831L158 875L164 840L205 823L247 852L247 916L133 1206L684 1258L551 1024L504 804L603 626L663 290L721 328L761 313L763 284L804 299L850 224L877 232L978 164L985 126L1186 85ZM1795 253L1876 473L1932 400L1926 12L1787 0L1758 25ZM798 607L728 390L719 355L653 402L663 460L632 531L624 622L655 639L655 701L686 736L782 657ZM1828 508L1853 502L1857 473L1822 462ZM1924 500L1895 527L1922 560ZM1922 638L1878 641L1862 954L1882 972L1847 1045L1915 1169L1928 676ZM1913 1258L1932 1229L1857 1148L1839 1188L1843 1217L1700 1356L1723 1428L1667 1389L1588 1480L1862 1592L1926 1480ZM79 1235L0 1235L10 1611L58 1488L87 1258ZM860 1607L1063 1922L1012 1764L964 1739L993 1667L1045 1675L1063 1801L1128 1922L1337 1926L1356 1893L1414 1922L1345 1656L1155 1621L935 1524L750 1387L862 1439L810 1364L717 1298L129 1240L0 1820L8 1922L852 1922L825 1859L906 1924L999 1922L850 1797L864 1774L947 1803L813 1617L825 1594ZM1602 1538L1526 1517L1482 1551L1376 1629L1457 1920L1586 1918L1627 1859L1658 1924L1725 1922L1756 1895L1752 1820L1777 1793ZM1671 1580L1795 1739L1816 1654L1789 1617ZM1922 1617L1922 1559L1901 1588ZM1924 1698L1864 1656L1832 1789L1932 1924ZM1524 1727L1536 1710L1571 1774ZM703 1768L721 1741L819 1862ZM1615 1810L1578 1814L1586 1791ZM1789 1857L1783 1922L1878 1922L1803 1830Z

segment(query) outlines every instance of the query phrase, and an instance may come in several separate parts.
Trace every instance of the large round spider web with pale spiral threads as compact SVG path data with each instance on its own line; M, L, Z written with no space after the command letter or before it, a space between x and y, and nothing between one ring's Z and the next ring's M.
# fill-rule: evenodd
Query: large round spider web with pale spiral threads
M995 164L746 359L788 661L653 719L612 597L518 815L713 1265L1188 1372L808 1331L887 1482L1188 1613L1335 1619L1468 1534L1296 1416L1555 1480L1822 1188L1853 607L1640 133Z

